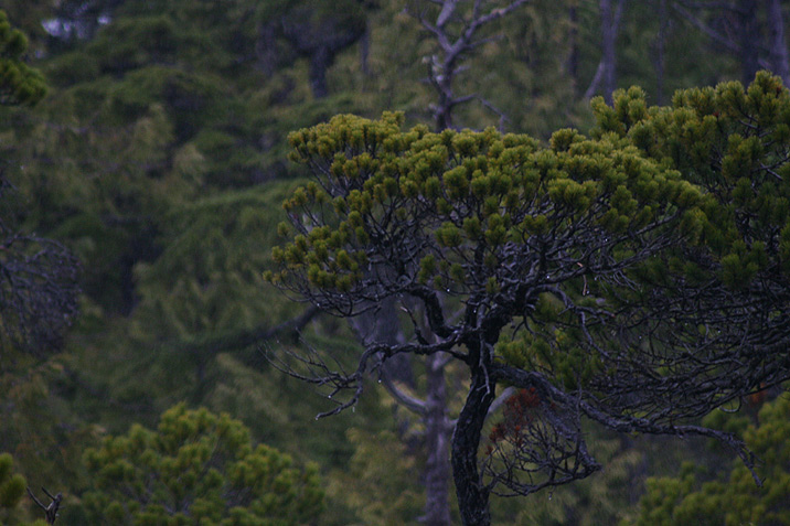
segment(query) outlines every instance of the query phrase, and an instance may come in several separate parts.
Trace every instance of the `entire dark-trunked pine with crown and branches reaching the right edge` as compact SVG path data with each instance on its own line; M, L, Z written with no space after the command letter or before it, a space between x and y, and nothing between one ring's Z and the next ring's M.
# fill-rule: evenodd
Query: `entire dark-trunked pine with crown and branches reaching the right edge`
M648 108L636 88L615 100L594 103L592 139L561 130L549 148L493 129L404 131L394 114L338 116L289 137L313 181L284 204L289 241L268 278L344 318L394 298L412 322L407 342L370 343L353 373L314 354L292 373L331 395L351 389L334 414L398 354L466 364L452 463L467 524L489 520L491 492L524 495L598 470L581 416L618 431L716 437L748 463L732 434L687 420L788 376L773 346L786 337L787 207L783 180L768 178L787 160L787 90L761 74L748 93L688 92L669 109ZM703 131L712 139L693 141ZM677 152L690 136L706 172L690 173ZM659 154L664 144L677 162ZM762 217L745 216L758 195ZM498 385L523 389L511 400L517 421L494 429L478 459Z

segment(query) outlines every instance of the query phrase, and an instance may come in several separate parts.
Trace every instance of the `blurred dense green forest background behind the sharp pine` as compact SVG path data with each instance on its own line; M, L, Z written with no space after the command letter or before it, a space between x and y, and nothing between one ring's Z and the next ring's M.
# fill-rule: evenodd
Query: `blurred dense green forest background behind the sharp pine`
M342 362L359 331L290 301L263 272L280 203L305 175L287 160L289 131L343 112L437 122L430 68L441 49L419 20L436 18L434 3L2 0L0 9L26 34L23 62L47 88L34 106L0 108L2 235L13 224L66 248L81 288L78 314L58 337L0 341L0 452L31 487L62 492L61 520L81 524L104 502L96 448L132 423L156 428L183 402L184 418L185 407L227 412L255 443L288 455L301 484L323 495L293 522L416 523L423 423L376 388L354 411L317 420L332 401L269 355L312 345ZM527 1L487 25L463 57L453 86L469 97L453 125L547 140L559 128L588 129L590 98L608 100L616 88L640 85L664 105L676 89L748 83L761 68L787 82L788 17L790 1ZM425 371L412 373L416 391ZM449 371L446 382L452 409L463 378ZM764 402L715 419L746 430ZM701 480L733 466L702 440L590 432L600 433L602 473L495 501L494 519L636 522L649 476L675 476L688 459ZM688 493L690 470L648 487ZM23 500L0 522L39 512Z

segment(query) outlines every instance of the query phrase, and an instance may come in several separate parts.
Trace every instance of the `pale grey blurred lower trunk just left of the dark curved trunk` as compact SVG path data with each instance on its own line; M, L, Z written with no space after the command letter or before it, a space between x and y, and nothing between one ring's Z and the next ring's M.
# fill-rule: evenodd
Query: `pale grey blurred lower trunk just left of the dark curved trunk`
M428 459L425 466L425 524L448 526L449 502L449 436L447 418L447 391L445 386L445 357L439 354L426 359L427 415L425 418Z

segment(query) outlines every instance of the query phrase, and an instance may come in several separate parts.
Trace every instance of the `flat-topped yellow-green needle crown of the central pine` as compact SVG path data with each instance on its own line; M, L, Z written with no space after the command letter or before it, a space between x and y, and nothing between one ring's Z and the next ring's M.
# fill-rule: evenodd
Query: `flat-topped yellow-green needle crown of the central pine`
M314 180L282 205L292 226L279 229L287 238L273 253L280 271L267 279L353 294L372 251L426 236L418 265L404 261L398 272L437 289L494 294L533 236L578 235L584 245L579 232L636 233L702 200L676 171L613 136L564 130L545 149L491 128L433 133L402 125L399 114L340 115L289 136L291 159ZM705 221L690 214L684 228Z

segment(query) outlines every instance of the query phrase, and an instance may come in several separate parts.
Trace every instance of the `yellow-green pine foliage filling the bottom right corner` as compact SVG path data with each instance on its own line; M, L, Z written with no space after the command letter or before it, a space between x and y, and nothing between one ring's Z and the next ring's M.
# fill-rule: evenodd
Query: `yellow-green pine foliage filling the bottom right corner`
M637 525L790 524L790 398L766 404L744 433L760 462L762 487L739 461L725 476L700 483L693 464L675 477L649 479Z

